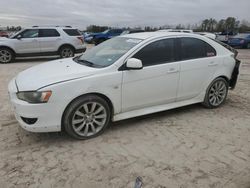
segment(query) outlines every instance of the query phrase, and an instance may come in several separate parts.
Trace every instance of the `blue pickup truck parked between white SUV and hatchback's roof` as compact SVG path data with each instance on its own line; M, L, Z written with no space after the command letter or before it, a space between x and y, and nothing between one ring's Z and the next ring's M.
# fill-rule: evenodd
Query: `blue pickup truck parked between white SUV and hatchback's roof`
M94 43L95 45L98 45L105 40L119 36L122 32L123 32L122 29L108 29L101 33L92 33L85 38L85 42Z

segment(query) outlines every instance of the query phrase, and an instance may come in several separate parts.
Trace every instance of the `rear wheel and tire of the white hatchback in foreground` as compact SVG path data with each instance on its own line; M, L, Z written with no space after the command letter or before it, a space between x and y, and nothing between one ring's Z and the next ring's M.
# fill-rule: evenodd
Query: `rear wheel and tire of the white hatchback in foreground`
M216 89L216 86L219 88ZM227 98L228 82L222 77L216 78L207 88L206 96L202 103L206 108L217 108L221 106Z

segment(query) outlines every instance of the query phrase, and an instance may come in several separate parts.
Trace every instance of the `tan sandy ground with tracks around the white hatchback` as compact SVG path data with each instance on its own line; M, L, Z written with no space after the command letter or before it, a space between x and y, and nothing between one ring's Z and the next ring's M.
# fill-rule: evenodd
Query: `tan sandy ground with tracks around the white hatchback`
M250 51L221 108L191 105L117 122L103 135L76 141L65 133L29 133L16 122L7 84L47 61L0 65L0 187L250 187Z

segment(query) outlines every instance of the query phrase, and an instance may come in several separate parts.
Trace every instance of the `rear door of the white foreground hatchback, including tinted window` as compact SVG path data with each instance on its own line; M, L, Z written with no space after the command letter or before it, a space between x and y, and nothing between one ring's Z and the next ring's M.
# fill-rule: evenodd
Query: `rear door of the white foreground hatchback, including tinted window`
M177 100L187 100L199 95L214 75L220 60L215 49L203 40L191 37L178 38L180 58L180 83Z

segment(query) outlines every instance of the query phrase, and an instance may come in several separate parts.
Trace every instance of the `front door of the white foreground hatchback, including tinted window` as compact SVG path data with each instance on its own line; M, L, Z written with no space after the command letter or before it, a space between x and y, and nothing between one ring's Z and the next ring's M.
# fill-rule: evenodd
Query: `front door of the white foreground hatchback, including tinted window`
M175 39L161 39L139 50L141 70L124 70L122 111L174 102L179 82L179 62L175 62Z

